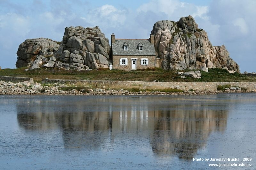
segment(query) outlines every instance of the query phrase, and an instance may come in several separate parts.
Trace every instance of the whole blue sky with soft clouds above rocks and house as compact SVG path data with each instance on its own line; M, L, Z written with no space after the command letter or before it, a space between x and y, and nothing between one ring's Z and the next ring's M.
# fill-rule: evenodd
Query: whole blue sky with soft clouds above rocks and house
M241 72L256 72L255 0L0 0L0 66L15 68L29 38L61 41L65 27L99 26L110 40L147 39L159 20L191 15L213 46L225 45Z

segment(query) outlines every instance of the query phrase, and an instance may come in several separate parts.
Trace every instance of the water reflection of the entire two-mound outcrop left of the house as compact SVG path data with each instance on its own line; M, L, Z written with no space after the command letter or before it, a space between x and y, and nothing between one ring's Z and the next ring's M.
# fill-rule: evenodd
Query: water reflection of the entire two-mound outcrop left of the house
M100 105L93 108L94 112L85 112L89 108L83 104L83 101L58 101L51 97L19 100L18 123L25 130L60 129L64 147L97 149L108 137L112 118L109 112L97 112L102 109Z

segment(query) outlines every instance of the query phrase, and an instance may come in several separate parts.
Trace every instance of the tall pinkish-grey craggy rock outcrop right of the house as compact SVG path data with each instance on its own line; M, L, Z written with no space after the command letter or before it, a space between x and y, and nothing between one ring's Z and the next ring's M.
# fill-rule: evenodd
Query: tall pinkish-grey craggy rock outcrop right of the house
M227 67L240 72L225 46L212 46L207 33L198 28L192 16L182 17L178 22L158 21L152 32L157 57L162 59L165 70L208 71L207 68Z

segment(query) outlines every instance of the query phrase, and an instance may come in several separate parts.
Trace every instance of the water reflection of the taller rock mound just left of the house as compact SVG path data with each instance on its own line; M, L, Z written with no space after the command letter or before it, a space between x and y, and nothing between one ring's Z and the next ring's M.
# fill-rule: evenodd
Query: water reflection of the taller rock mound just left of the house
M108 138L108 112L78 112L62 115L62 137L67 148L98 149Z

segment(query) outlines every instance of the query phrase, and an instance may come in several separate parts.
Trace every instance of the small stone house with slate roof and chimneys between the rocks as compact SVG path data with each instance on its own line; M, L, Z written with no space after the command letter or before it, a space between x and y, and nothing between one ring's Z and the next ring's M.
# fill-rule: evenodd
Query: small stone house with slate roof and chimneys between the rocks
M113 69L136 70L155 68L154 35L149 39L116 39L111 35Z

